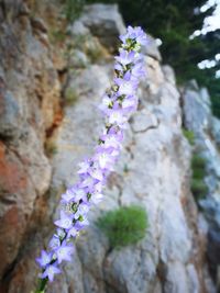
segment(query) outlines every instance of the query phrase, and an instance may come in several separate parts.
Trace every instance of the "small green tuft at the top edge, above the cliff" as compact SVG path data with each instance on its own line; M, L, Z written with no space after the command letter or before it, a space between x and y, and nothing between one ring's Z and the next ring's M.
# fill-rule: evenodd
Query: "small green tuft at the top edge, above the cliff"
M69 23L73 23L79 18L85 1L84 0L65 0L64 14Z

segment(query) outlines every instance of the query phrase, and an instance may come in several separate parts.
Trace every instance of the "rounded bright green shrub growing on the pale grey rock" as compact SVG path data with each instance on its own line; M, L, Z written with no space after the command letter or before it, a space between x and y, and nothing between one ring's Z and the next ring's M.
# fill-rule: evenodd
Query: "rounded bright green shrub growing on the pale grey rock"
M148 226L145 210L135 205L110 211L101 216L97 224L112 248L138 243L144 238Z

